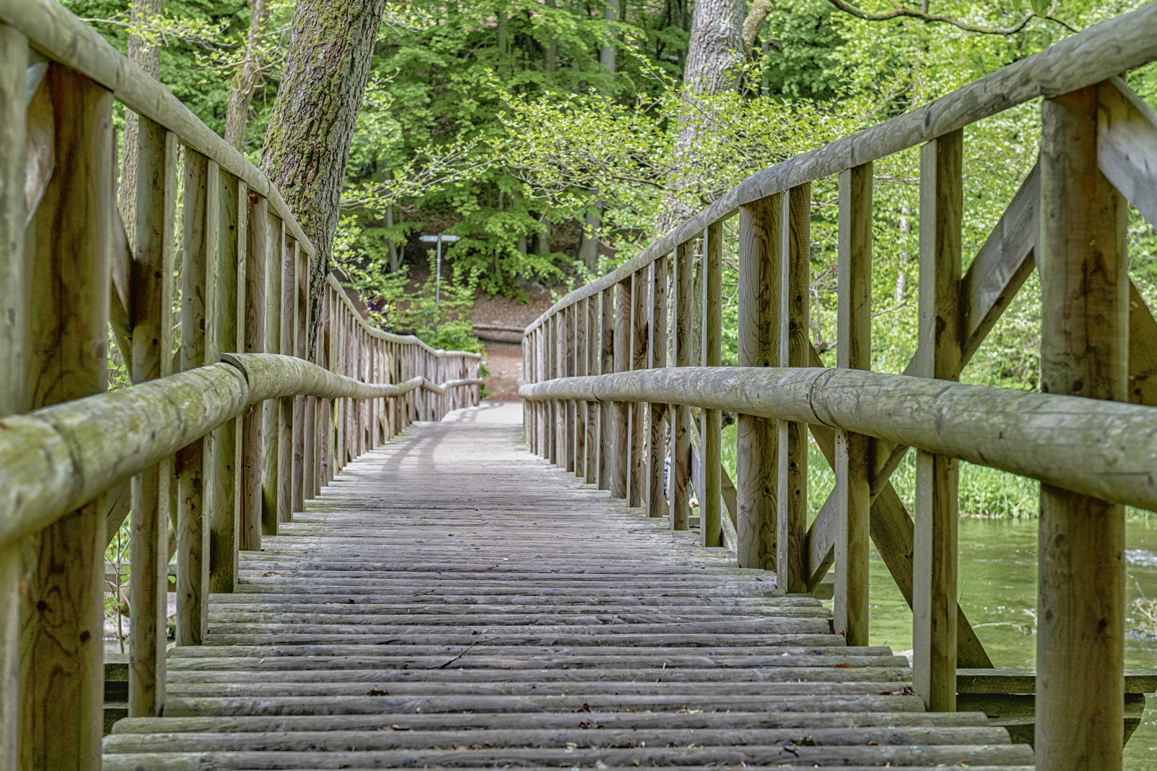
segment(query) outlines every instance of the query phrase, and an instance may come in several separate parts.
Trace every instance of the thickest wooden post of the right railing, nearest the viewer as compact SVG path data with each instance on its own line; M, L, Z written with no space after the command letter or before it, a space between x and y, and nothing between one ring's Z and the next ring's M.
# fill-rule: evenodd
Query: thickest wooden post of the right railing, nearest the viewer
M1097 168L1097 89L1041 105L1040 390L1128 400L1128 206ZM1121 768L1123 506L1040 485L1037 766Z

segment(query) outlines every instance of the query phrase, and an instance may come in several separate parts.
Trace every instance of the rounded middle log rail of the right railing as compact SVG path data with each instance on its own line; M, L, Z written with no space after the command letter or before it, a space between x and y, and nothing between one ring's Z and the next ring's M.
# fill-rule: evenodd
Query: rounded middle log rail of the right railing
M1157 510L1157 410L865 370L671 368L559 378L523 399L665 402L867 433Z

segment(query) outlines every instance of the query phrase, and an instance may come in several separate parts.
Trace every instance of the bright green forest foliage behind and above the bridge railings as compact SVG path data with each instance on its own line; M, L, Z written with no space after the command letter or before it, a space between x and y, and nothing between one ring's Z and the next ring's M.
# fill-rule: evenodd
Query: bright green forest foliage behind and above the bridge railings
M64 1L121 51L131 32L159 47L161 82L222 135L233 120L243 151L259 162L292 0L165 0L159 12L127 0ZM744 22L742 40L716 44L730 45L723 88L688 86L688 74L700 72L692 0L386 5L333 252L383 323L435 335L433 252L421 233L460 237L445 254L442 287L443 310L457 323L441 325L436 336L465 344L476 295L565 291L757 170L1142 5L699 2L700 16L735 13ZM230 108L246 65L250 98ZM1130 73L1128 81L1157 104L1157 71ZM966 266L1032 168L1038 128L1034 102L966 129ZM908 333L919 280L918 177L915 150L875 166L872 366L879 370L901 370L915 346ZM827 351L835 334L834 179L815 184L812 195L811 336ZM724 231L728 363L737 276L735 233ZM1157 299L1154 230L1135 215L1129 249L1134 279ZM965 379L1037 387L1038 304L1030 279Z

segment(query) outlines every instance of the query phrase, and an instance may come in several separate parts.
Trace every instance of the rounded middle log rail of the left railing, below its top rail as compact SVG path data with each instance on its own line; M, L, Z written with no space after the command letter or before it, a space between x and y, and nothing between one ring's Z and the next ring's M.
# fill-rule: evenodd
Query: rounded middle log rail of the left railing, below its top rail
M382 399L415 388L444 394L478 379L414 377L370 384L277 354L222 354L200 366L130 388L0 420L0 544L141 473L246 406L279 396Z

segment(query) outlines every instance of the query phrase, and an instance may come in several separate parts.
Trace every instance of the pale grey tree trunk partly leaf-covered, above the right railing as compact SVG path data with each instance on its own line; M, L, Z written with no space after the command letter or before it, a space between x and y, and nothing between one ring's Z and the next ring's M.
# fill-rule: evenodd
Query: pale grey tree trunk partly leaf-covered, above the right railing
M737 65L743 60L744 0L697 0L691 17L691 40L687 61L683 68L683 109L679 116L679 133L675 140L676 176L671 190L664 197L658 216L658 232L669 232L678 223L690 218L695 209L681 193L693 184L691 172L681 168L693 168L698 138L699 98L734 89L738 84Z

